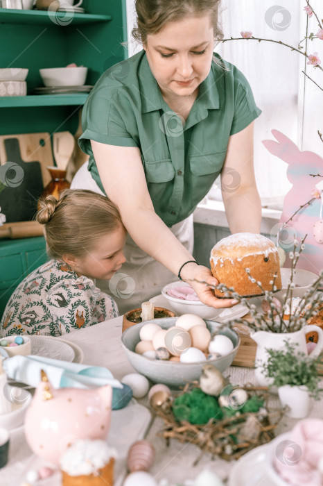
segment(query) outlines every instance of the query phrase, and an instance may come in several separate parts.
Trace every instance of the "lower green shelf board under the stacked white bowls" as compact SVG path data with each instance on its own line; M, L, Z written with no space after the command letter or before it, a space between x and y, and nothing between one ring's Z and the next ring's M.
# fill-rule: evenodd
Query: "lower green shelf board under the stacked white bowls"
M0 108L24 106L73 106L84 105L88 93L30 94L26 97L0 97Z

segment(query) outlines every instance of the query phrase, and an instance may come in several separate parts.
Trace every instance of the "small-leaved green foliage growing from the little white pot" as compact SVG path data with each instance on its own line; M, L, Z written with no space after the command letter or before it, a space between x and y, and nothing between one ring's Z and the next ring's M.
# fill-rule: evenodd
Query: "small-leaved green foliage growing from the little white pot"
M317 363L320 357L311 358L297 351L297 344L285 341L284 349L267 349L268 361L261 364L263 375L272 378L272 385L302 386L306 385L310 395L315 400L320 399L323 389L320 388L320 378L317 376Z

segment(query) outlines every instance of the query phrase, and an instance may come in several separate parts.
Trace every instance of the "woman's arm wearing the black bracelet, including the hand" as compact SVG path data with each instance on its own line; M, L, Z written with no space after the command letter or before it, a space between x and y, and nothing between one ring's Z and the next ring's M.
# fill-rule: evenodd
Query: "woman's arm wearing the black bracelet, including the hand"
M121 219L137 245L177 275L193 256L155 213L137 147L101 144L91 140L98 172L107 196L118 206ZM207 267L189 263L182 269L183 280L205 280L216 285ZM232 299L216 299L209 287L190 282L200 300L215 308L229 307Z

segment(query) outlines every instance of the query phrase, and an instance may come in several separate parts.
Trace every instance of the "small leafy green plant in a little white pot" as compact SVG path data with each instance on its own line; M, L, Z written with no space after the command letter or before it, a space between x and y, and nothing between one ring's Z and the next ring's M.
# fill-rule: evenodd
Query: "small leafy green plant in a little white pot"
M318 400L323 389L317 376L317 362L320 358L310 358L297 351L297 343L285 341L283 349L267 349L268 360L261 364L261 373L272 379L278 388L281 405L288 405L288 417L307 417L310 399Z

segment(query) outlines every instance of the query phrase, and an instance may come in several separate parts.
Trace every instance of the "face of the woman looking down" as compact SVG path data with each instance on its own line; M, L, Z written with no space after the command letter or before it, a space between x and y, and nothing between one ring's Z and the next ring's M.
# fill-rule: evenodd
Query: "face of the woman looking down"
M213 46L209 15L169 22L147 36L143 49L164 97L187 97L198 90L211 69Z

